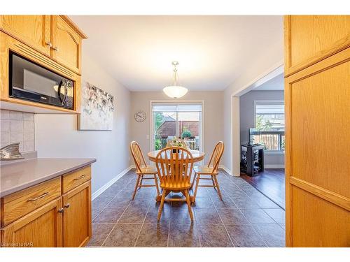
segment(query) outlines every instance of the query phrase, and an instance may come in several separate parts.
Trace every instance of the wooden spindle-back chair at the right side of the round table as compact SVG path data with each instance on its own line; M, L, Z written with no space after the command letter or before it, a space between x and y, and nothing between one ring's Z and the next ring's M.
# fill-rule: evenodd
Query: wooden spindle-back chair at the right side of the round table
M195 198L197 195L198 187L214 187L218 191L218 196L221 201L223 201L223 196L221 196L220 186L218 184L218 180L216 179L216 175L218 175L218 166L223 156L224 144L223 141L220 141L214 147L214 151L211 154L209 163L207 166L195 166L195 177L193 177L193 183L195 185L195 194L193 195L193 202L195 202ZM210 177L208 177L210 176ZM200 180L211 180L213 185L210 184L200 184Z

